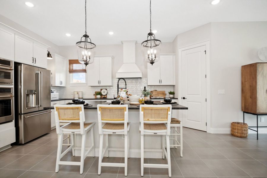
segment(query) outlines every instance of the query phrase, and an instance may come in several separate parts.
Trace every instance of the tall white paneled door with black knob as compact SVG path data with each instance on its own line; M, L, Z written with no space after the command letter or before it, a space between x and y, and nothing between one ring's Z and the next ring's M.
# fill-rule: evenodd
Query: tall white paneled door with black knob
M206 46L183 50L180 69L183 126L206 131Z

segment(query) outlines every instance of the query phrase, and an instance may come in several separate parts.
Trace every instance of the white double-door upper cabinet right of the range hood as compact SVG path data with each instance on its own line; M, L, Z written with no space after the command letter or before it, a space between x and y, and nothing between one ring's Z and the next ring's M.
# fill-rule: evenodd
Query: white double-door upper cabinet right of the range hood
M147 85L175 85L175 54L161 54L160 61L147 63Z

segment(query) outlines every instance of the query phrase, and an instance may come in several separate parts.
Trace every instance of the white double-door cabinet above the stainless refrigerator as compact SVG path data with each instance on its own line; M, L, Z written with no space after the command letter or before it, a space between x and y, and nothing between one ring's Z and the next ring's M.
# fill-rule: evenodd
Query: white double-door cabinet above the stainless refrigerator
M47 68L47 47L25 36L15 34L15 61Z

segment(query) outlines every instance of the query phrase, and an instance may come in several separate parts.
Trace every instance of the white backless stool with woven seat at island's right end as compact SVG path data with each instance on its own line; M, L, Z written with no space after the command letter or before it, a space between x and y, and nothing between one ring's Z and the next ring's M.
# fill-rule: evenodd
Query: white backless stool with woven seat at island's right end
M180 127L180 132L178 132L178 127ZM171 136L174 135L174 138L170 138L174 140L173 144L171 144L171 147L180 147L181 157L183 157L183 126L182 122L177 118L171 118L171 130L174 131L174 133L171 133ZM178 135L180 135L180 143L178 142ZM178 144L176 144L178 143Z

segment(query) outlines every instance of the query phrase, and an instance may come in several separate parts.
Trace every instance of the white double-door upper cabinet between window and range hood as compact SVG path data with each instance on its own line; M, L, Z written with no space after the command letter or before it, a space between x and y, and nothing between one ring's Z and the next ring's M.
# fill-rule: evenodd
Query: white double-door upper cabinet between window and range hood
M87 66L88 86L112 86L113 56L95 56Z

